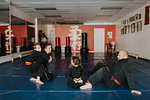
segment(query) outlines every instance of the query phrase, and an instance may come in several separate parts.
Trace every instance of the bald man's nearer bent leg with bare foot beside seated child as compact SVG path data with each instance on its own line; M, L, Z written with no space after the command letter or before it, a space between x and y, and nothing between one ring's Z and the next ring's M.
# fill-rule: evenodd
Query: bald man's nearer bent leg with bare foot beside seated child
M91 75L88 78L87 83L85 85L81 86L80 89L81 90L91 89L92 85L99 83L102 80L102 78L104 77L105 70L106 70L105 67L102 67L99 70L97 70L93 75Z

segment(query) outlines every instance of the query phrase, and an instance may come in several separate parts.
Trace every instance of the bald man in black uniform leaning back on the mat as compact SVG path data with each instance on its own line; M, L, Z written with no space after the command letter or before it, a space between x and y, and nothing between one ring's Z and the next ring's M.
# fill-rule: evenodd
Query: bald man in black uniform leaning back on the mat
M93 85L103 82L107 87L116 87L127 80L131 93L141 95L140 91L135 88L135 83L131 73L132 62L128 59L127 51L120 51L118 54L118 61L116 61L109 69L103 63L98 63L99 68L88 78L86 85L80 87L81 90L91 89ZM98 67L96 65L96 67Z

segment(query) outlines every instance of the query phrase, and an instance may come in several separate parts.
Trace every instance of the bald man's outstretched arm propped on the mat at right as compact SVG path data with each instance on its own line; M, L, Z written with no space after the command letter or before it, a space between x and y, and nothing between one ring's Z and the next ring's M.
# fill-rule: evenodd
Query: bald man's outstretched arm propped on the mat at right
M127 66L124 67L123 72L124 72L125 77L127 79L128 86L129 86L129 89L131 90L131 93L136 93L138 95L141 95L142 93L140 91L137 91L135 88L133 74L131 73L131 65L127 64Z

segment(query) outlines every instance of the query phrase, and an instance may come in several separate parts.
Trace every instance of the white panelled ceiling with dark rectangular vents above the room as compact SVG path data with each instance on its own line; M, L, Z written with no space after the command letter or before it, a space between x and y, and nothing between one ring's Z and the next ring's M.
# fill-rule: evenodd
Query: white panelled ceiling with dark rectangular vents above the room
M150 0L10 0L42 23L114 22Z

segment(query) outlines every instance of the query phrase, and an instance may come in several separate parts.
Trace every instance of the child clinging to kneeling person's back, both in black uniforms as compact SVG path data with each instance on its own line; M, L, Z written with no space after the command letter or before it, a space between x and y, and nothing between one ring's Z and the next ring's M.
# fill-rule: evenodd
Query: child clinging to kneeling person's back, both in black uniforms
M46 80L52 80L53 75L48 72L47 64L52 61L51 44L46 43L41 49L40 43L33 45L34 50L26 61L27 69L31 72L31 81L44 84ZM45 73L47 76L45 76Z

